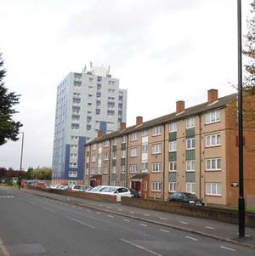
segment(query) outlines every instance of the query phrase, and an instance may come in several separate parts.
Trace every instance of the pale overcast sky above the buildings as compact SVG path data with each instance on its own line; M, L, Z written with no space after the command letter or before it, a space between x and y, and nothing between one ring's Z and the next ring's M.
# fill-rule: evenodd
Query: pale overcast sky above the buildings
M242 0L242 32L252 0ZM20 94L22 168L51 167L57 84L84 65L111 65L127 88L127 127L235 93L237 0L2 0L0 53ZM0 167L20 169L20 139L0 146Z

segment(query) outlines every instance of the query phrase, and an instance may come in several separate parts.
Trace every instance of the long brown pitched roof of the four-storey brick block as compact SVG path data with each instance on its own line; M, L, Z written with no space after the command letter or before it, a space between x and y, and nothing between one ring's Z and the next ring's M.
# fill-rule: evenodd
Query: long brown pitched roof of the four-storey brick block
M155 127L156 125L161 125L161 124L165 124L168 122L177 122L178 120L181 120L181 119L184 119L187 117L197 116L197 115L202 114L207 111L224 108L227 105L229 105L231 102L234 102L236 100L236 97L237 97L236 94L230 94L230 95L224 96L222 98L219 98L216 102L214 102L212 104L208 104L207 102L205 102L200 105L194 105L194 106L191 106L190 108L185 109L185 111L183 111L179 114L176 114L176 112L173 112L166 116L157 117L156 119L152 119L150 121L143 122L143 124L141 124L139 126L133 125L133 126L126 128L122 131L118 130L111 134L105 134L100 138L97 138L97 139L94 139L94 140L88 142L86 145L92 145L94 143L99 143L99 142L105 141L107 139L114 139L117 137L121 137L125 134L131 134L133 132L139 132L144 129L152 128L152 127Z

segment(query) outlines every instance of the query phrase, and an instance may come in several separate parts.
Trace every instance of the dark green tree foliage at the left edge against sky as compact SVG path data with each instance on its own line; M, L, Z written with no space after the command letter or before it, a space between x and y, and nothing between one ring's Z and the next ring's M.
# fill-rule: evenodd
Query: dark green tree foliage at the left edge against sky
M5 88L3 77L6 71L3 68L2 54L0 54L0 145L7 142L8 139L16 141L20 133L22 124L14 122L13 115L17 113L14 110L14 105L19 103L20 95L9 93Z

